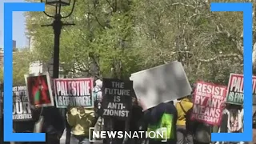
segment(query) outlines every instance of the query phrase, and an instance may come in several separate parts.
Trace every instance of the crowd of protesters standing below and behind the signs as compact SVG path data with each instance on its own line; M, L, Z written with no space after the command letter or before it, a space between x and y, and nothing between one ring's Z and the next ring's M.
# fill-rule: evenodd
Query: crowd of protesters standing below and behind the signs
M89 128L95 126L95 130L117 130L117 131L138 131L148 130L150 126L158 124L164 114L172 114L170 137L168 144L209 144L211 132L242 132L243 109L242 106L227 105L223 112L221 126L210 126L206 123L190 120L193 108L193 93L184 98L179 98L177 102L162 102L158 106L147 109L145 104L134 95L132 100L132 110L130 118L126 121L118 119L101 118L102 102L102 81L96 81L94 86L94 109L84 107L72 107L58 109L50 107L31 107L33 111L33 121L14 122L14 132L33 132L35 127L42 127L42 132L46 133L46 142L15 142L15 143L47 143L59 144L64 130L70 130L70 144L89 144ZM4 114L2 114L3 119ZM40 119L44 121L40 123ZM65 131L65 132L66 132ZM2 130L1 130L2 132ZM68 133L67 133L68 134ZM2 135L2 134L1 134ZM154 138L115 138L104 139L103 142L109 144L157 144L162 143ZM9 143L9 142L4 142ZM224 143L224 142L216 142ZM232 142L231 142L232 143ZM238 143L238 142L234 142ZM243 143L243 142L240 142Z

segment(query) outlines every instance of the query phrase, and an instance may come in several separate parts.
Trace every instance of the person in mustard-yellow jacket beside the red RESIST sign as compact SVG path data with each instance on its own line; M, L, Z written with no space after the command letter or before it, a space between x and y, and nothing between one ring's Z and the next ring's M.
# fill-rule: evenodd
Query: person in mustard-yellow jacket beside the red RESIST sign
M176 103L176 108L178 111L177 119L177 144L193 144L193 131L194 128L191 127L190 118L186 119L186 115L189 115L190 110L192 110L193 103L190 102L188 97L179 98Z

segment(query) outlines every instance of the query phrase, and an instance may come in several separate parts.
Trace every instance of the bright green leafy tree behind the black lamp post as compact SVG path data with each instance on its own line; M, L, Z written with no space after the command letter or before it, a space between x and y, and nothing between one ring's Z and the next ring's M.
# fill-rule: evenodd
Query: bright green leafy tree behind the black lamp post
M125 67L134 69L137 58L130 45L130 5L129 1L77 3L73 16L67 19L76 26L62 30L60 58L67 73L106 77L113 72L115 77L127 77L130 70ZM26 13L26 19L28 34L35 39L34 58L47 62L52 54L53 31L40 25L49 19L34 12Z

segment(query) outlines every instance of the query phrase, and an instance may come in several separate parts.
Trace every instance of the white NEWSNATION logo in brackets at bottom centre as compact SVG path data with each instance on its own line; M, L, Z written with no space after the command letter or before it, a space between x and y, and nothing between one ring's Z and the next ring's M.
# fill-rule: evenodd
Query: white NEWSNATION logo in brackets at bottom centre
M91 134L92 133L92 134ZM166 138L167 129L161 128L157 131L94 131L94 127L90 127L90 142L94 142L95 139L105 138L158 138L162 139L161 142L167 142Z

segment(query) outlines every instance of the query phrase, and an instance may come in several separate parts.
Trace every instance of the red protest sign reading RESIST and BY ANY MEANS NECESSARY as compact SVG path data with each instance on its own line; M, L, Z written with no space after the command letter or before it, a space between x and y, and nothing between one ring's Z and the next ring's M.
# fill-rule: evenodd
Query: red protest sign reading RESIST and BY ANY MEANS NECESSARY
M226 99L226 86L198 82L193 97L191 120L219 126Z

